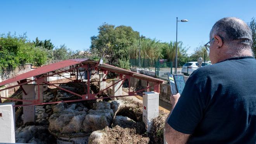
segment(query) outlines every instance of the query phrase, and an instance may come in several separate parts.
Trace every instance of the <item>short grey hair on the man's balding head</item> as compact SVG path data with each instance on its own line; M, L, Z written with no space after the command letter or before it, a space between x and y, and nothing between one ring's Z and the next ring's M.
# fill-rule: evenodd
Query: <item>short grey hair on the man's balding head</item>
M218 20L211 29L210 38L214 35L221 37L223 44L237 50L251 49L253 44L252 32L241 19L225 17Z

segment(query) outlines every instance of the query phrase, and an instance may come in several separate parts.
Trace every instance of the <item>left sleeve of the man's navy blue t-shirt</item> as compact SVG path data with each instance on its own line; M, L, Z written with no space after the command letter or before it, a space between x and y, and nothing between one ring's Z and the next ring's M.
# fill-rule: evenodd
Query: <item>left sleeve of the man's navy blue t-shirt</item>
M191 76L168 119L168 124L178 132L192 134L202 119L203 103L195 84L196 76Z

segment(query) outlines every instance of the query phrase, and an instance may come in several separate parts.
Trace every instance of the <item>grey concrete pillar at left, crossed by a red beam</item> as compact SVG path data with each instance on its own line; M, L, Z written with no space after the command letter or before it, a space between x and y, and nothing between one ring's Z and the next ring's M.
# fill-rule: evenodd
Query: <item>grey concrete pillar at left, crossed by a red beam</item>
M35 100L35 85L23 85L22 86L26 91L27 95L22 92L22 99L23 100ZM23 102L23 105L28 104L30 102ZM23 124L26 122L34 122L35 123L35 105L32 106L24 106L23 107Z

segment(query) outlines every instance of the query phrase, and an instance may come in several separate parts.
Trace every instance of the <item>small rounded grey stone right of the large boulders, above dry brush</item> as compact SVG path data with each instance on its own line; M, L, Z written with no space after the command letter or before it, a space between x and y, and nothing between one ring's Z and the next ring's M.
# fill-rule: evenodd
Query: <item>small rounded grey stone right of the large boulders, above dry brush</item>
M127 128L132 127L136 122L128 117L117 115L113 122L113 127L119 125L120 127Z

